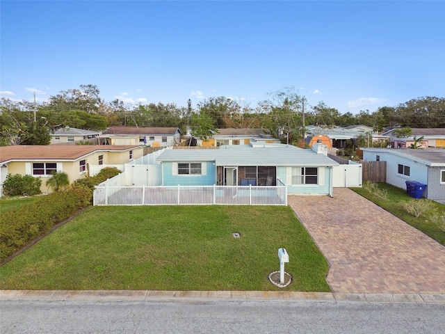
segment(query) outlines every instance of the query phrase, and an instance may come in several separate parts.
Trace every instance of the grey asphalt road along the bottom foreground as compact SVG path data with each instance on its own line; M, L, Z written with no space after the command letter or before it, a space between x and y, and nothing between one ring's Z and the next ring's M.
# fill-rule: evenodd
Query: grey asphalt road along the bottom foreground
M445 333L445 305L1 301L0 333Z

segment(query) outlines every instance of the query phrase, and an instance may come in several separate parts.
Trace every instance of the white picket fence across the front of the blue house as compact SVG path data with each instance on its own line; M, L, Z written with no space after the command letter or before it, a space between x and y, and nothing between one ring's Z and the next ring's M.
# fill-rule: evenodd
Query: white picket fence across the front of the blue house
M286 186L96 187L93 205L287 205Z

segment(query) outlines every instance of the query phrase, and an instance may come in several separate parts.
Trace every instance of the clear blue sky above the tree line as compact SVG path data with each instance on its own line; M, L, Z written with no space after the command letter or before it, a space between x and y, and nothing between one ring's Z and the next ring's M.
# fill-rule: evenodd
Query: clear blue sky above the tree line
M255 107L294 87L341 113L445 97L444 1L3 1L0 97Z

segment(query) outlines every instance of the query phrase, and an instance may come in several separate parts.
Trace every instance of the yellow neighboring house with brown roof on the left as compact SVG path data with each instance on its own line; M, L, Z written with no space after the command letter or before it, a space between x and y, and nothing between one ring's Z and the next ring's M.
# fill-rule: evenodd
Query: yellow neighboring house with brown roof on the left
M48 192L51 172L67 173L70 183L89 175L92 166L124 166L143 156L143 147L103 145L15 145L0 147L0 186L8 174L42 177ZM98 168L95 168L98 169Z

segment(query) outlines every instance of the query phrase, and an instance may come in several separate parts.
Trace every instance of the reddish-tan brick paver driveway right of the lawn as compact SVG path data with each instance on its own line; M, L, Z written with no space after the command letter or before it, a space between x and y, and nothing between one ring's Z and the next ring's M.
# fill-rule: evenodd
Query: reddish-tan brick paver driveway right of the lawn
M330 262L333 292L444 294L445 246L350 189L289 196Z

